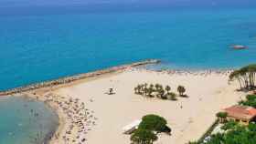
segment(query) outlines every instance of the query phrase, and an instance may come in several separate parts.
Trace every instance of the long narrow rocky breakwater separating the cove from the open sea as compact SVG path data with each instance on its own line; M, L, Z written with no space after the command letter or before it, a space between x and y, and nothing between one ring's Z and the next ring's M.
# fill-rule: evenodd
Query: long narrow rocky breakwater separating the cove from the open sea
M131 68L131 67L140 67L140 66L144 66L144 65L158 64L160 62L161 61L157 60L157 59L148 59L148 60L144 60L144 61L141 61L141 62L135 62L135 63L129 64L129 65L122 65L122 66L118 66L118 67L110 67L110 68L107 68L107 69L98 70L98 71L90 72L90 73L79 74L79 75L70 76L70 77L61 77L61 78L56 79L56 80L45 81L45 82L40 82L40 83L37 83L37 84L28 85L28 86L25 86L25 87L16 87L16 88L8 89L8 90L5 90L5 91L0 91L0 96L14 95L14 94L17 94L17 93L27 92L29 90L35 90L35 89L41 88L41 87L53 87L53 86L68 84L70 82L74 82L74 81L84 79L84 78L98 77L98 76L101 76L101 75L104 75L104 74L110 74L110 73L113 73L113 72L122 71L122 70L125 70L127 68Z

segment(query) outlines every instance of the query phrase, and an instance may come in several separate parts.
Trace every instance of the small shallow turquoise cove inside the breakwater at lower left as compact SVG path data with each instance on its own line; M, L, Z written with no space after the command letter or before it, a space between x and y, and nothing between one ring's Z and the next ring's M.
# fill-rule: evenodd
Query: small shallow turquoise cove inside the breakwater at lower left
M0 97L0 144L42 144L57 129L58 120L42 102Z

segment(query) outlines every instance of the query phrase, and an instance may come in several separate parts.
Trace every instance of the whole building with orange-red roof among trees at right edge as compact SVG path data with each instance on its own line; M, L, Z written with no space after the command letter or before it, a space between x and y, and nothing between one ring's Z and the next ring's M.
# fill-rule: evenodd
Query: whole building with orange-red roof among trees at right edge
M224 110L228 113L228 120L233 119L243 125L256 121L256 108L235 105Z

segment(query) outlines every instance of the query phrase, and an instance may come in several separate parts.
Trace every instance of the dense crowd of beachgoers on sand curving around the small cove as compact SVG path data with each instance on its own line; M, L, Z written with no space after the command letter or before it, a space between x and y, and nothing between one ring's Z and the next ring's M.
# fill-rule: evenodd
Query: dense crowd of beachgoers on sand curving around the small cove
M58 107L65 118L63 131L56 133L53 139L65 144L83 144L87 141L86 134L96 125L94 111L85 108L79 98L65 98L53 94L45 96L45 102Z

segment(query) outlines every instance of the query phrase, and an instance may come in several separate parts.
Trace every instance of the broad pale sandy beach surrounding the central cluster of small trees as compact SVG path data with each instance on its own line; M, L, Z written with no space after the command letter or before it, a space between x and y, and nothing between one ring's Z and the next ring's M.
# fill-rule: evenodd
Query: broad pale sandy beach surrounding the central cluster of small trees
M172 136L161 134L155 143L185 144L189 140L199 139L215 121L215 114L219 110L242 98L243 93L236 91L238 85L228 84L228 73L155 72L131 68L121 73L91 80L83 79L54 88L50 95L64 99L77 98L84 103L85 108L91 110L93 126L90 123L85 126L90 129L86 128L87 132L82 135L86 143L129 144L130 136L123 134L123 127L144 115L157 114L167 119ZM183 85L187 88L189 97L171 101L135 95L133 88L143 83L169 85L173 92L176 92L178 85ZM105 94L111 87L116 94ZM48 90L39 89L37 94L42 96L46 91ZM69 122L66 121L64 125L69 125ZM58 143L64 143L61 139L66 136L65 131L67 128L64 127L59 133ZM69 138L76 139L78 135L80 134L74 132Z

